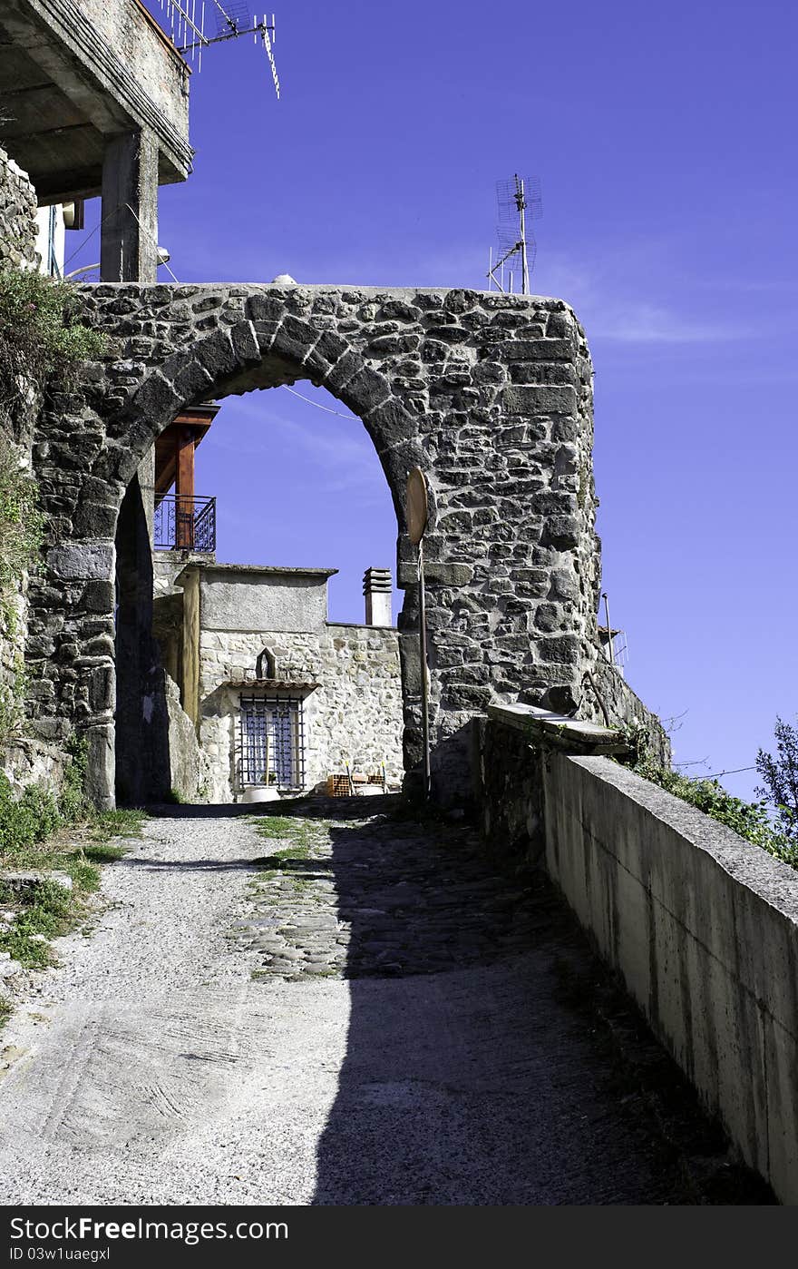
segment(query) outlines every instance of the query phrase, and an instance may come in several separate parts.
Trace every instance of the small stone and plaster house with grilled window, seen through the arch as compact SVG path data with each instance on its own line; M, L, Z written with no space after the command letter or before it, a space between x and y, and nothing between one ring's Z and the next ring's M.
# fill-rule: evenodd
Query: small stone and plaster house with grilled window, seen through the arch
M401 786L398 634L387 623L327 621L335 572L197 558L156 598L156 634L197 730L198 783L211 802L264 784L324 791L346 768ZM367 615L376 572L384 576L367 572ZM173 745L173 780L192 749L190 737L179 755Z

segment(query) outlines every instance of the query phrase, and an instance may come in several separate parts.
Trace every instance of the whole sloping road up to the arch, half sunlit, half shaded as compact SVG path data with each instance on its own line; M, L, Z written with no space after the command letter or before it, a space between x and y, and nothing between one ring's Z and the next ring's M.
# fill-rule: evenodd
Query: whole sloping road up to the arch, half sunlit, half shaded
M150 820L23 983L0 1202L685 1200L544 886L395 802L239 811Z

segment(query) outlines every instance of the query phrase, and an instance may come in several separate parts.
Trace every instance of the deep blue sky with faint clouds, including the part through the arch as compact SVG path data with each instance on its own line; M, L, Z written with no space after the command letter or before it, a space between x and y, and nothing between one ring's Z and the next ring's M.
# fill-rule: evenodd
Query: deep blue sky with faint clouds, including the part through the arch
M482 287L495 181L540 178L532 289L592 349L613 623L694 774L749 766L798 711L797 27L768 0L287 0L282 100L250 42L207 52L194 175L161 190L180 280ZM331 614L360 619L395 523L359 423L250 395L199 472L222 557L339 566Z

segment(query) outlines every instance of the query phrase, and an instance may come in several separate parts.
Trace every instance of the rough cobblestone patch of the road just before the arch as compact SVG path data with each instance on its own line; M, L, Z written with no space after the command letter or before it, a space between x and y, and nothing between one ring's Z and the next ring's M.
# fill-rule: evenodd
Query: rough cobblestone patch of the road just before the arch
M549 925L534 876L496 873L472 830L420 824L397 799L376 812L376 801L337 803L337 817L329 802L259 821L270 849L239 931L260 976L462 970L528 950Z

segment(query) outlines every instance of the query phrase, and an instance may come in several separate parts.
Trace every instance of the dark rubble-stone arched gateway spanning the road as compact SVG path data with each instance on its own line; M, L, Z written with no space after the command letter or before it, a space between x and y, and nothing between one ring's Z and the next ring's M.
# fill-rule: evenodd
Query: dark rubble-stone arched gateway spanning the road
M398 525L405 768L420 761L416 572L407 472L431 491L428 562L433 777L471 780L469 723L491 699L577 687L595 659L598 542L591 364L559 299L301 286L86 287L113 355L53 396L34 466L47 567L30 588L33 727L89 737L114 797L114 538L126 490L180 410L310 379L367 428Z

